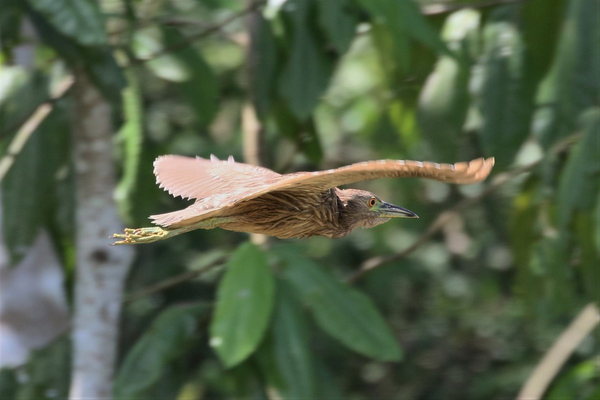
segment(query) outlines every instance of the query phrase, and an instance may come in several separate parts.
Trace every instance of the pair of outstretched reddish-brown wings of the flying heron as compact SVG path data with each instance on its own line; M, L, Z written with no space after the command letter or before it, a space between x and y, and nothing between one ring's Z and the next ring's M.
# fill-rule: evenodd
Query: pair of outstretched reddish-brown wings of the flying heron
M212 216L231 215L240 201L282 190L324 191L379 178L428 178L454 184L473 184L487 178L494 158L469 163L436 164L421 161L378 160L317 172L279 175L272 170L228 161L163 156L154 163L157 183L173 196L197 199L183 210L152 215L155 224L179 227Z

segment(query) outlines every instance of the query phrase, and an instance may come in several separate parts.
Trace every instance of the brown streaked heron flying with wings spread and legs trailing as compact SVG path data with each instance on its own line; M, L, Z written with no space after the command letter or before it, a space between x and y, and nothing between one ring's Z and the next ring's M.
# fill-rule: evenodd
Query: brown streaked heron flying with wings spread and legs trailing
M279 174L270 169L219 160L163 155L154 161L157 184L174 197L194 199L182 210L151 215L155 227L126 228L113 245L151 243L191 230L220 227L281 239L342 237L391 218L418 218L364 190L340 189L379 178L428 178L452 184L483 181L494 158L468 163L377 160L317 172Z

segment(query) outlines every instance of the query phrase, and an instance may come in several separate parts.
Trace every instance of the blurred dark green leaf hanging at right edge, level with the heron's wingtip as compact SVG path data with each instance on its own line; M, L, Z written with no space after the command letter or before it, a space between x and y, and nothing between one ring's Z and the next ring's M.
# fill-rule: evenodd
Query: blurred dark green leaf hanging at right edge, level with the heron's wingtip
M569 152L556 201L559 226L566 228L575 210L590 211L600 190L600 110L581 113L582 138Z

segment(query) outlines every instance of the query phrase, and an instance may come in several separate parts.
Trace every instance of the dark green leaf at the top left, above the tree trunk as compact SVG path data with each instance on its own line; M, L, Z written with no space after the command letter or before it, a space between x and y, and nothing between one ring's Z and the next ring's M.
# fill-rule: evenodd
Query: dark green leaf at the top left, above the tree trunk
M108 43L104 20L91 0L29 0L58 31L83 45Z

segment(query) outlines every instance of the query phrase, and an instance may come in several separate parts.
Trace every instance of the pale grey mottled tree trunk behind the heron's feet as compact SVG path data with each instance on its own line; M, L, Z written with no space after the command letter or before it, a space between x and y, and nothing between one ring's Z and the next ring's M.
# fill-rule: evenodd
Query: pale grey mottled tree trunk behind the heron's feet
M76 279L71 399L112 396L119 314L130 246L109 247L121 230L112 193L110 105L76 71L73 86L73 165L76 174Z

